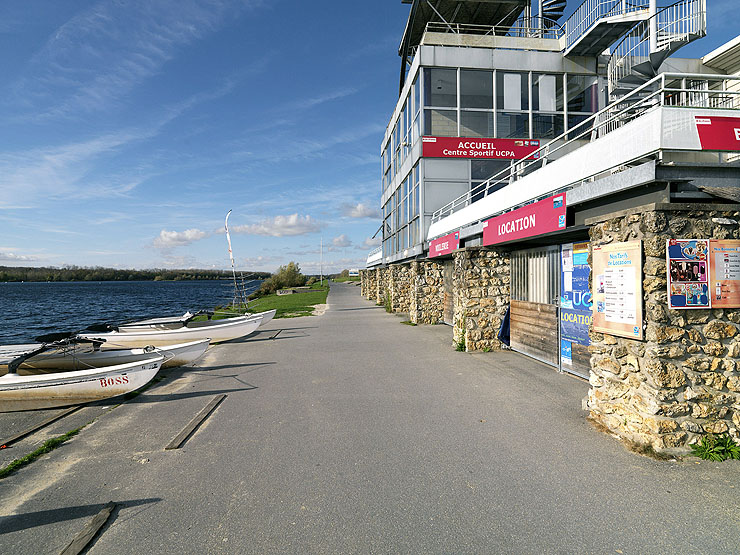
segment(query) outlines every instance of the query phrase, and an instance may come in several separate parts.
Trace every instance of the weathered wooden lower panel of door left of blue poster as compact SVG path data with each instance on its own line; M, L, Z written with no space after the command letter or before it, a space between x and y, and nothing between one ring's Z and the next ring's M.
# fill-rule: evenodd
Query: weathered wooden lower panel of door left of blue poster
M512 300L510 317L512 349L557 366L557 307Z

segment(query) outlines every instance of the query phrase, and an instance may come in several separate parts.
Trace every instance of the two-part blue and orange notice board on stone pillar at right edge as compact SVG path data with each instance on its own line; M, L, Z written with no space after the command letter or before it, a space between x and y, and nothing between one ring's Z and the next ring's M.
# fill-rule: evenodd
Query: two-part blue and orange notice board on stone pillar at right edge
M668 239L668 306L740 307L740 240Z

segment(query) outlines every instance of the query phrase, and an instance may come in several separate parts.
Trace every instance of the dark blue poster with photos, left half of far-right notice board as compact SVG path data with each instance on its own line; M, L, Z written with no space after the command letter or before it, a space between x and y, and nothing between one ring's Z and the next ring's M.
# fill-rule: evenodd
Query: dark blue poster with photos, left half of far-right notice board
M709 241L706 239L668 239L669 308L710 308Z

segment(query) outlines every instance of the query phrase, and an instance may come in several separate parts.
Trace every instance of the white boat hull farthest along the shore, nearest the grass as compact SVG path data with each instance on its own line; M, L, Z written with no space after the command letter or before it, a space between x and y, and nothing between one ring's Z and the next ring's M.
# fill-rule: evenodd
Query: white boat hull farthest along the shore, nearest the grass
M119 331L105 333L81 333L83 339L104 339L101 349L127 347L143 347L145 345L172 345L197 339L210 339L211 343L221 343L231 339L246 337L257 330L262 319L257 320L239 316L224 320L213 320L210 325L200 326L195 322L188 327L177 329L151 329L121 327ZM204 322L205 323L205 322Z

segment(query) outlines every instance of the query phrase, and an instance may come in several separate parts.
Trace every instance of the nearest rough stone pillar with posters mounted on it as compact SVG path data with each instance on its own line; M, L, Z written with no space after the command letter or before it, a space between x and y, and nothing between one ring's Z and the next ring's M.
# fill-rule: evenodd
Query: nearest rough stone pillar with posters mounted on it
M641 239L645 341L591 332L591 417L657 451L740 439L740 309L669 310L666 240L739 238L740 212L658 205L593 224L591 246ZM589 262L591 260L589 259Z

